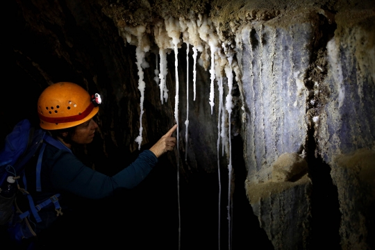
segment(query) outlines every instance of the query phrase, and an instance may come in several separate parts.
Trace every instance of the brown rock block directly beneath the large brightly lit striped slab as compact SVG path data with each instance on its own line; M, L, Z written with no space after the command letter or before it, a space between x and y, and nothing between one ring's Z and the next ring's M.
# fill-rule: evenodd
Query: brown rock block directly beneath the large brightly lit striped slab
M312 183L307 174L295 182L247 180L245 188L274 249L309 249Z

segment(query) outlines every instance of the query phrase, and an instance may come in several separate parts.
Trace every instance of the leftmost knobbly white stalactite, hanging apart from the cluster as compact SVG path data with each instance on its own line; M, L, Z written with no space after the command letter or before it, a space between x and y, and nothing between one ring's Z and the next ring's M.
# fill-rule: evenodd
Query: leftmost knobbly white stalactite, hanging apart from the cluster
M138 143L138 150L140 150L140 146L142 144L142 131L143 131L142 116L144 112L143 111L144 88L146 87L146 84L143 81L143 78L144 78L143 69L146 67L149 67L149 63L147 63L146 60L144 60L144 56L145 56L145 53L149 51L150 44L149 44L147 35L144 35L144 31L146 31L146 28L144 26L138 26L134 28L126 27L124 28L124 31L126 31L124 33L126 33L125 36L126 36L127 42L129 43L133 42L131 35L134 35L138 40L137 49L135 49L135 58L137 60L136 65L138 68L138 77L139 77L138 90L140 90L140 94L141 94L141 97L140 97L140 135L138 135L138 137L135 139L135 142Z

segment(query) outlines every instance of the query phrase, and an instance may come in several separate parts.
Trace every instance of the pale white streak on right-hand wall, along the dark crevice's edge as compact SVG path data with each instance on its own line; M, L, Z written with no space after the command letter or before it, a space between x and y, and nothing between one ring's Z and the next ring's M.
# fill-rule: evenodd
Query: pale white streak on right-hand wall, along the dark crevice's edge
M339 55L339 48L338 44L335 42L335 38L332 38L327 43L327 52L328 52L328 60L331 63L332 67L332 74L333 78L335 79L336 86L338 88L338 104L339 108L341 108L342 103L344 103L345 97L345 87L342 83L342 65L340 62L340 55Z

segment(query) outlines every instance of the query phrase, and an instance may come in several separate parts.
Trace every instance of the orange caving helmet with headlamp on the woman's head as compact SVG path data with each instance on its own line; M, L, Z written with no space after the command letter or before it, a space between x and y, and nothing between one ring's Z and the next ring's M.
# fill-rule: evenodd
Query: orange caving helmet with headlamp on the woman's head
M96 104L101 102L97 94ZM38 99L40 127L47 130L70 128L88 121L98 113L90 94L75 83L55 83Z

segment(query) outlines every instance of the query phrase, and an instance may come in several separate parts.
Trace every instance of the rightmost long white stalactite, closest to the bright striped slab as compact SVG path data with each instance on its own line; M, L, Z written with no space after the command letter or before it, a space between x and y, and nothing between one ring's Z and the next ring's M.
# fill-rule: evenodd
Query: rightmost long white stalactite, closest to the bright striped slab
M228 249L231 249L231 210L233 210L233 203L231 202L231 181L232 181L232 144L231 144L231 113L233 108L232 102L232 88L233 88L233 71L232 71L233 57L228 57L228 66L225 67L226 77L228 78L228 94L226 96L226 110L228 111L228 136L229 136L229 164L228 164ZM232 209L231 209L232 208Z

